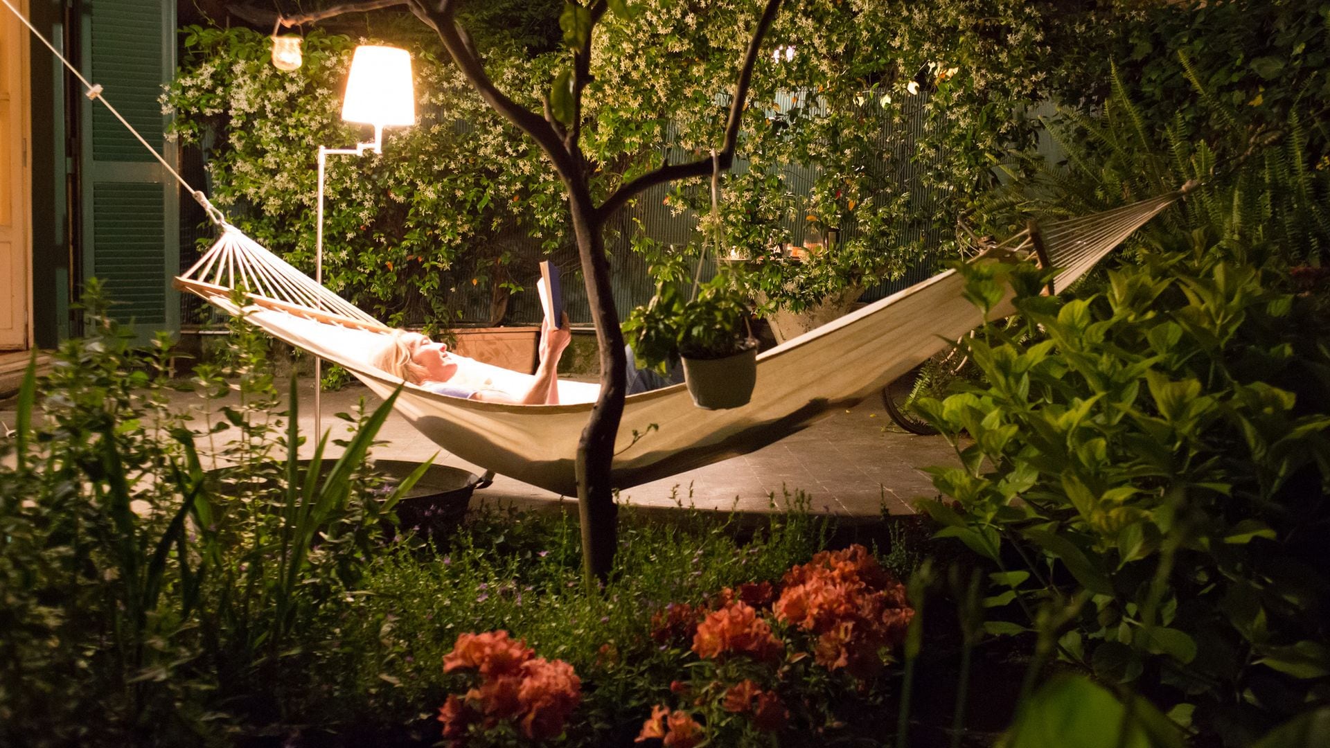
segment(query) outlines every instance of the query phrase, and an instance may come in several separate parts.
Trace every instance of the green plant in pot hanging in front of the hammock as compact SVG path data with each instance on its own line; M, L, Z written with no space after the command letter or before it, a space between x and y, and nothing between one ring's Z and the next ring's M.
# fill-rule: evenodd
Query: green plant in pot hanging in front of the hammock
M747 299L734 272L685 285L682 260L652 268L656 294L624 322L638 366L666 373L684 362L697 407L721 410L749 402L757 383L757 341L747 330Z

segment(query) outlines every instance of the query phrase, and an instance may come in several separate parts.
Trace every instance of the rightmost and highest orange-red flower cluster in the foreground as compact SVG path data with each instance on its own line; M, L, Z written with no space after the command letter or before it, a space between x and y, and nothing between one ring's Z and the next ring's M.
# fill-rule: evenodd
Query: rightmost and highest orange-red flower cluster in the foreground
M817 635L814 660L871 677L879 651L899 644L914 618L906 588L863 546L822 551L791 568L773 610L778 620Z

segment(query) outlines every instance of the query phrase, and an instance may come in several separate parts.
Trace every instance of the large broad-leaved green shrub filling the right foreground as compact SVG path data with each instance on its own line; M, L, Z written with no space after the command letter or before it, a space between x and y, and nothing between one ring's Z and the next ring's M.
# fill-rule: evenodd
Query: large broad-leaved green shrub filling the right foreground
M1330 359L1314 295L1205 238L1085 298L1015 268L1039 342L990 330L968 342L990 385L919 403L962 461L934 470L956 503L923 507L999 566L990 604L1084 603L1061 657L1245 744L1330 673L1309 532L1327 522Z

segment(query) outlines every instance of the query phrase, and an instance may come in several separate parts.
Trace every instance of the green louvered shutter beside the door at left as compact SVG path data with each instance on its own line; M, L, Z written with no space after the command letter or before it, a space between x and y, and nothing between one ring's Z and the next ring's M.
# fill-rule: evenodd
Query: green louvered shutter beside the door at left
M158 96L176 69L174 0L84 3L82 71L153 148L176 162ZM97 101L82 100L84 277L97 277L112 314L141 338L180 330L180 193L174 178Z

